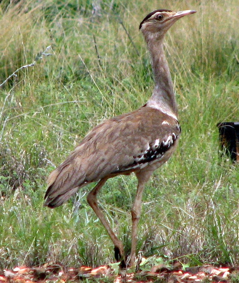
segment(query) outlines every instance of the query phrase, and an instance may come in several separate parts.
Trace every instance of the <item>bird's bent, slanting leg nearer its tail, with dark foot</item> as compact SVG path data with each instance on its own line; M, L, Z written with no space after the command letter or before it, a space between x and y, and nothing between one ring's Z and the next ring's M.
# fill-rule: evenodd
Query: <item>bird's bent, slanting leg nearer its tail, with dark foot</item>
M111 229L108 221L106 220L103 212L100 210L97 203L97 194L100 191L101 187L108 180L108 177L105 177L99 181L99 183L89 192L87 196L87 201L91 208L94 210L104 228L108 232L114 246L115 246L115 258L117 261L121 260L121 266L125 267L125 256L122 242L116 237L115 233Z

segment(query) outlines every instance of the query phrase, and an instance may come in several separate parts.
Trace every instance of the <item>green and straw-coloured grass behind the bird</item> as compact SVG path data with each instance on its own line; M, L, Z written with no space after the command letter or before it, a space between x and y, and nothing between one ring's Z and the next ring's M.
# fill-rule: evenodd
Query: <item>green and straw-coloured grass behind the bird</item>
M42 208L45 179L92 127L150 97L154 83L138 26L157 8L197 14L178 21L166 37L182 135L146 186L138 249L192 265L238 264L238 165L218 157L216 127L238 121L236 5L102 0L93 16L85 0L1 2L0 83L46 46L53 50L0 89L0 269L114 262L113 245L84 195L93 184L50 210ZM126 247L135 187L135 176L118 176L99 194Z

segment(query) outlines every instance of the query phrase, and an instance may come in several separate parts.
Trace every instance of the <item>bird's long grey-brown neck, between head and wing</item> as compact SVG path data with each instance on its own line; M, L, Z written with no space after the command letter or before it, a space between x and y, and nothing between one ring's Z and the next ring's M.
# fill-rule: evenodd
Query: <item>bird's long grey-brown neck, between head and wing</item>
M173 83L163 51L163 38L158 40L147 40L148 50L151 54L152 68L155 78L155 88L147 106L160 109L164 113L177 119L178 108L176 104Z

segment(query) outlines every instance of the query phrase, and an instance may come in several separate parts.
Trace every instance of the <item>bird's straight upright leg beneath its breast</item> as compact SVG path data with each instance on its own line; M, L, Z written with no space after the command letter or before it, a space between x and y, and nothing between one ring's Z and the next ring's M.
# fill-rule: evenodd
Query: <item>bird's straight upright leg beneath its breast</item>
M132 234L131 234L131 252L130 252L130 261L129 266L135 265L135 256L136 256L136 243L137 243L137 228L139 224L139 218L141 213L141 202L143 196L143 190L145 183L149 180L151 172L137 172L135 173L138 178L138 187L135 196L135 201L132 206L131 216L132 216Z

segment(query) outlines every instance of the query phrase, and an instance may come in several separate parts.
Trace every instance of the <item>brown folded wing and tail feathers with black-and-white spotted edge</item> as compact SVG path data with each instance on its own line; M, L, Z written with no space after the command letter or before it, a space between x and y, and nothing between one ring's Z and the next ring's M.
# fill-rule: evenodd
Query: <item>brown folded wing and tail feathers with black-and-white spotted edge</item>
M150 107L105 121L50 174L44 205L57 207L90 182L145 167L160 159L178 135L177 121Z

